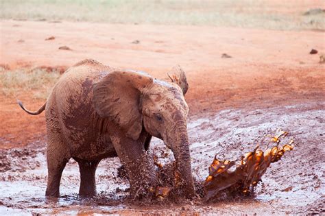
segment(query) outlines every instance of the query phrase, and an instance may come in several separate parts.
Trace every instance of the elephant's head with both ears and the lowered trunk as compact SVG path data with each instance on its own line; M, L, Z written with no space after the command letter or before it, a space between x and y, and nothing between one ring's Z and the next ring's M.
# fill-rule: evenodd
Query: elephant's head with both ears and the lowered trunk
M184 95L189 88L177 67L171 82L153 79L139 71L114 71L94 86L94 106L101 117L114 121L126 136L137 140L143 130L163 139L176 159L184 195L193 196L193 177Z

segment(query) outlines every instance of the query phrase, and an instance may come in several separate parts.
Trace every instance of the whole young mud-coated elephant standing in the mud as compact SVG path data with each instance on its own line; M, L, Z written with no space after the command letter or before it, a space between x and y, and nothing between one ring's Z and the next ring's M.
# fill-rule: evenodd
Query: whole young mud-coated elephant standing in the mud
M80 167L80 195L96 193L95 171L103 158L119 156L128 171L131 194L142 197L156 186L152 157L147 154L152 136L163 139L176 158L186 197L194 195L184 100L188 89L181 69L172 82L153 79L139 71L121 71L95 60L68 69L46 103L46 195L58 197L62 171L70 158Z

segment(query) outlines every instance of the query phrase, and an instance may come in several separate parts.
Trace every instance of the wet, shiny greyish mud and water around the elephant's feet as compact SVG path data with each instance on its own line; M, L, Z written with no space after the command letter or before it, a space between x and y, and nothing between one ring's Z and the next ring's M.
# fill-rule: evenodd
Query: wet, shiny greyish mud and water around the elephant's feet
M254 197L201 204L155 204L134 206L128 202L128 182L119 177L119 158L102 160L97 169L97 192L93 199L77 196L79 169L70 160L64 169L58 200L45 200L47 169L45 144L1 150L0 214L60 213L257 213L261 215L324 212L325 104L299 104L265 110L221 110L204 119L189 120L193 176L203 181L215 154L237 160L278 128L290 132L295 149L271 165L258 184ZM289 137L290 138L290 137ZM263 145L261 145L263 147ZM265 147L265 146L264 146ZM150 147L160 163L173 160L162 141Z

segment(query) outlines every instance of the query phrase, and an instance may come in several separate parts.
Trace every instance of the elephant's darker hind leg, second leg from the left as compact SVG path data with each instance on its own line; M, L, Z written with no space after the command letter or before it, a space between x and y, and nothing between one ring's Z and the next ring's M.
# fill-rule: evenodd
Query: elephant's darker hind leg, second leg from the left
M80 169L79 195L82 197L91 197L96 195L95 173L100 160L73 159L77 161Z

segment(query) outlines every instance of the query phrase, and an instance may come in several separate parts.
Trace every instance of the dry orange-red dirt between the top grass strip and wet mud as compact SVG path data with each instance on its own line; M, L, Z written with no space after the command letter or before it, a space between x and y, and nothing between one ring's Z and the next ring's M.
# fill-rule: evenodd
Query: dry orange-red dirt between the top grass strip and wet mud
M50 36L55 39L45 40ZM324 32L315 31L1 21L0 65L62 69L93 58L167 78L169 69L180 64L188 77L186 101L194 117L223 108L324 101L325 64L319 63L324 38ZM58 49L62 46L71 50ZM319 53L311 55L311 49ZM223 53L232 58L221 58ZM17 94L31 110L44 102L30 93ZM0 95L0 101L0 148L45 136L44 114L25 114L13 97Z

